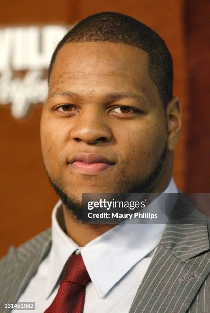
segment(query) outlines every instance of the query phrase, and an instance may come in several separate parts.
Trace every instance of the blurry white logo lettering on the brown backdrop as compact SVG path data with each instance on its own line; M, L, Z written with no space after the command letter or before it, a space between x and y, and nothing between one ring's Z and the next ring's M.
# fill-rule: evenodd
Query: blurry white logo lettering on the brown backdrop
M15 118L45 101L46 70L69 29L58 25L0 28L0 105L11 103Z

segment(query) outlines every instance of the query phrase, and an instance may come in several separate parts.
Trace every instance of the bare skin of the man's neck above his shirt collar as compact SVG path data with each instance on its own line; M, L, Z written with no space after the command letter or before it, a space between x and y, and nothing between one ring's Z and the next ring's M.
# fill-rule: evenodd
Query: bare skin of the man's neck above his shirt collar
M150 187L148 193L162 193L170 182L172 170L173 155L168 155L157 180L154 185ZM69 211L64 205L62 205L62 209L66 233L76 244L79 245L79 247L83 247L90 241L116 226L116 224L82 224L69 214Z

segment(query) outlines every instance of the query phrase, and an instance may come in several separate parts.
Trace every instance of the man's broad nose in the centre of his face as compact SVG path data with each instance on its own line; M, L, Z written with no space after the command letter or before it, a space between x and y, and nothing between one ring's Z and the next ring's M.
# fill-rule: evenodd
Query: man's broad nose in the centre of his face
M105 122L104 114L96 108L90 108L75 118L71 138L86 144L97 144L109 142L112 132Z

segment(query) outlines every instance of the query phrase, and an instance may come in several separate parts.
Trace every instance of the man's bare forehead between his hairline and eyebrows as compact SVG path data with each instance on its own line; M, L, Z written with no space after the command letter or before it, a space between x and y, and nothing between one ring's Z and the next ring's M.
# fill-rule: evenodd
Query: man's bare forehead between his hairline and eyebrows
M60 75L147 76L148 54L137 47L112 42L71 42L59 51L52 69L53 78Z

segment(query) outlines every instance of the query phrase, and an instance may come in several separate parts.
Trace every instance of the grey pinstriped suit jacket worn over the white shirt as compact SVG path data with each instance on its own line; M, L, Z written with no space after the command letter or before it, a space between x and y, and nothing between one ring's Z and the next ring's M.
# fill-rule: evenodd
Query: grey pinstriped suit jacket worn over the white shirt
M185 204L182 196L174 210ZM0 303L17 302L50 247L48 229L19 248L10 248L0 261ZM209 313L209 273L209 223L169 222L129 313Z

